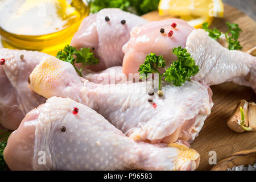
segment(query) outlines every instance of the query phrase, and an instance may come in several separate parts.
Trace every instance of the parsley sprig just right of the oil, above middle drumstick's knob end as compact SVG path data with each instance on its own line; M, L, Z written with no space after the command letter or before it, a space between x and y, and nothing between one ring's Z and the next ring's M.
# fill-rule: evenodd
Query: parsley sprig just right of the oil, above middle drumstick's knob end
M79 76L82 76L82 68L85 65L98 64L100 61L94 57L93 52L90 52L90 48L81 48L79 50L76 47L65 46L65 48L57 53L57 59L66 61L73 65ZM75 63L82 63L82 67L77 69Z

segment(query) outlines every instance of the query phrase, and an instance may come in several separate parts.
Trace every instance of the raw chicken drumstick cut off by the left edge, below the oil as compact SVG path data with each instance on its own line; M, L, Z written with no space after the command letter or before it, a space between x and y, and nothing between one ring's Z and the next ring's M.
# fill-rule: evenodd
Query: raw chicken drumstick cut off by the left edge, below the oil
M0 124L16 130L28 111L43 104L46 99L32 92L28 77L46 53L0 49Z

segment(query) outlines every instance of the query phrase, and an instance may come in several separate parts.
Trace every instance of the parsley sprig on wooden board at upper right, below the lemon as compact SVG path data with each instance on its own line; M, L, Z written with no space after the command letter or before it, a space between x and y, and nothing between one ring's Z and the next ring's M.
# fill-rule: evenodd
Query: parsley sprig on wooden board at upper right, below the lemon
M228 32L225 34L217 30L217 28L213 28L213 30L209 29L209 24L203 23L203 29L207 32L209 32L209 36L213 38L214 40L218 40L222 34L226 37L226 42L229 43L229 50L239 50L242 49L242 46L240 42L238 41L238 38L240 36L240 32L242 31L241 28L238 27L238 24L229 22L226 22L226 25L229 27Z

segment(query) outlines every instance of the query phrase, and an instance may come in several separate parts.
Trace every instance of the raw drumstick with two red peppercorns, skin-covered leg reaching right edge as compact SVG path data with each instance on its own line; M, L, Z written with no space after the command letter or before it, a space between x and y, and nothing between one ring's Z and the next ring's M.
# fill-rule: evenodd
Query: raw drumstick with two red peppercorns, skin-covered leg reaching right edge
M172 23L176 23L176 27L172 27ZM161 34L160 28L164 28L166 33ZM168 36L169 31L173 31L172 36ZM256 57L241 51L230 51L210 38L204 30L194 30L180 19L150 22L133 28L129 42L123 46L123 73L137 73L139 65L151 52L163 55L169 67L177 59L172 48L179 46L187 48L200 67L195 80L209 86L233 81L251 86L256 92Z

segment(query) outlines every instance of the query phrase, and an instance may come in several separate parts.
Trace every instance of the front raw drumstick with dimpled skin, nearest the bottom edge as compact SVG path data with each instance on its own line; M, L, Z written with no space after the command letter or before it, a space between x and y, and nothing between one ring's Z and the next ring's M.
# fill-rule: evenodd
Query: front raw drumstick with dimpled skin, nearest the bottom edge
M178 144L135 142L89 107L52 97L11 134L4 158L12 170L194 170L200 155Z

